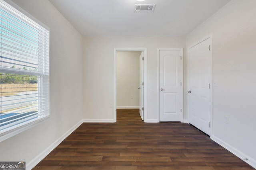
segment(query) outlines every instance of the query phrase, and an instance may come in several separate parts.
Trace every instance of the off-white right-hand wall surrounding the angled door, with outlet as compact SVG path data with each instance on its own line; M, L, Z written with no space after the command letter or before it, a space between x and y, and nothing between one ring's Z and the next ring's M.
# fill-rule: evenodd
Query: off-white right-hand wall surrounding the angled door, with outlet
M212 33L212 139L256 167L256 1L232 0L187 36ZM186 89L187 90L187 89ZM185 90L185 91L186 91ZM228 117L228 124L224 117Z

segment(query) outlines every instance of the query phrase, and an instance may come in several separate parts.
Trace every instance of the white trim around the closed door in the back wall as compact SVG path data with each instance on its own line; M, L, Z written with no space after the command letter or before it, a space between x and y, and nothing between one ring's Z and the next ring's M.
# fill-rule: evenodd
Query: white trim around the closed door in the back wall
M159 93L159 89L160 89L160 50L180 50L182 53L182 62L184 62L184 49L183 48L157 48L157 121L160 122L160 93ZM183 102L182 102L182 118L181 118L181 122L184 121L184 63L182 64L182 87L183 87L183 91L182 91L182 96L183 96Z

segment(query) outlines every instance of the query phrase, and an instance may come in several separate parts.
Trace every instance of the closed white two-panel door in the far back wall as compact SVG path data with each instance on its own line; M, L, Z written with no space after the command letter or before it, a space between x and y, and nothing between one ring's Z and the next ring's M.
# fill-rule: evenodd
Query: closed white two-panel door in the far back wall
M159 121L182 121L183 49L159 50Z

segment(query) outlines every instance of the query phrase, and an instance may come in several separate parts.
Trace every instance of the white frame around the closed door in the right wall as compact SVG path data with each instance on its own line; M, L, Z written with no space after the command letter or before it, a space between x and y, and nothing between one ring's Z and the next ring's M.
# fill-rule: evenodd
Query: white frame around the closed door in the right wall
M194 45L191 45L190 47L188 47L188 57L189 57L189 55L190 55L190 49L192 48L192 47L194 47L194 46L196 46L196 45L198 45L198 44L200 44L200 43L202 43L203 41L205 41L206 39L210 39L211 40L211 42L212 42L212 33L210 33L209 35L207 35L207 36L205 36L205 37L203 37L202 39L200 39L200 41L196 41L196 43L194 43ZM211 46L210 46L210 49L211 49L211 51L212 51L212 43L211 43ZM210 60L210 137L211 137L211 135L212 135L212 129L213 129L213 127L212 127L212 88L213 88L213 85L212 85L212 53L211 53L211 60ZM189 61L189 59L187 58L187 60ZM187 62L188 62L187 61ZM188 63L187 63L187 66L188 66ZM187 71L188 71L188 69L187 69ZM187 75L189 75L189 73L187 72ZM187 82L188 84L187 84L187 88L189 88L189 82ZM186 92L188 91L188 89L186 89ZM187 101L188 101L188 95L187 95ZM189 102L189 101L188 101ZM187 103L187 110L188 110L188 103ZM188 112L187 112L188 113ZM189 113L188 113L189 114ZM189 115L187 115L188 117L189 117ZM189 119L188 119L188 123L189 123Z

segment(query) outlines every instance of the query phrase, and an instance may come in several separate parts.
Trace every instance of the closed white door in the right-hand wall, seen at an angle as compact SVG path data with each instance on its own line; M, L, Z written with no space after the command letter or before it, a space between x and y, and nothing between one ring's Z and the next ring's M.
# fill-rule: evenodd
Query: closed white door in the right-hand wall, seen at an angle
M212 40L188 49L188 121L210 135Z

